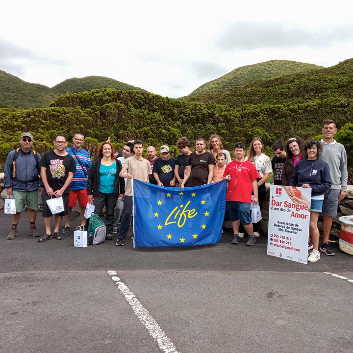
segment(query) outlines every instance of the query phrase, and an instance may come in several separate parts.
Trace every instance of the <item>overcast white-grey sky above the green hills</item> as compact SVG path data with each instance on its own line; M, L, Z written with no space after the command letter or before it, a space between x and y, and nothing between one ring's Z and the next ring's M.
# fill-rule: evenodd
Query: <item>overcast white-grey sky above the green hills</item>
M7 1L0 70L52 87L107 76L168 97L245 65L353 57L352 0Z

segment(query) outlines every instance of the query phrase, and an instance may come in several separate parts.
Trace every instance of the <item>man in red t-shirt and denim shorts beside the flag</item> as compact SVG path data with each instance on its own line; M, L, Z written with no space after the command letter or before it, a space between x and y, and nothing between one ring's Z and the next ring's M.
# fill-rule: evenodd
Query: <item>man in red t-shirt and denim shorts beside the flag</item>
M245 160L245 152L243 143L237 142L234 145L235 160L227 164L223 178L228 180L226 202L234 233L231 243L239 243L238 232L241 222L249 234L246 245L253 246L256 239L253 236L250 206L252 192L254 194L253 203L258 202L256 179L259 175L254 165Z

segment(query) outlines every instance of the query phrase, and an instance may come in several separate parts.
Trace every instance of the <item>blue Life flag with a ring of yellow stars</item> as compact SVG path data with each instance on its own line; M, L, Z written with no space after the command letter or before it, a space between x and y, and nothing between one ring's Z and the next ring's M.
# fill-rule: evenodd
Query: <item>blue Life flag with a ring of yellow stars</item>
M217 243L226 211L227 180L171 188L133 180L134 244L193 246Z

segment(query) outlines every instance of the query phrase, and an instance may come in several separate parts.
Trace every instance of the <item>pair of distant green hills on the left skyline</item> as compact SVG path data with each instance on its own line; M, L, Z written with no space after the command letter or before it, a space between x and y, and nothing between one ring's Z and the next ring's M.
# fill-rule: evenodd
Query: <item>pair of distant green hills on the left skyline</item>
M39 108L67 92L77 93L97 88L115 88L122 90L141 90L127 83L102 76L69 78L52 88L37 83L25 82L0 70L0 108Z

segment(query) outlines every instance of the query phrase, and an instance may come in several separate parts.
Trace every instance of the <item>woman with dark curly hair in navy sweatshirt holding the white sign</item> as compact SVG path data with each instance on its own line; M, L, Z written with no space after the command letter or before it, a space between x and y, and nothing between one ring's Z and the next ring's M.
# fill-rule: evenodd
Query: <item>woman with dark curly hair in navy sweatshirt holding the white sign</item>
M307 141L303 150L304 158L295 166L292 181L290 182L290 186L311 189L309 229L314 249L308 256L309 262L315 262L320 259L320 233L317 222L319 214L322 212L324 194L331 187L328 163L319 158L322 150L323 147L320 141ZM305 200L298 197L294 198L294 200L299 203L305 202Z

